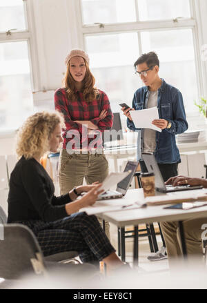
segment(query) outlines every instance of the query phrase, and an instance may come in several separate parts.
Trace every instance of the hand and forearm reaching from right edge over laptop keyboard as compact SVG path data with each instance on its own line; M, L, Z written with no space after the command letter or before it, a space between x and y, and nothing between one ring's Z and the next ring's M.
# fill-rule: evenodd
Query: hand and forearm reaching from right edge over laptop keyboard
M199 178L191 178L186 176L175 176L168 179L165 182L166 185L171 184L172 186L180 186L180 185L190 185L190 186L198 186L202 185L207 188L207 180L206 179L199 179Z

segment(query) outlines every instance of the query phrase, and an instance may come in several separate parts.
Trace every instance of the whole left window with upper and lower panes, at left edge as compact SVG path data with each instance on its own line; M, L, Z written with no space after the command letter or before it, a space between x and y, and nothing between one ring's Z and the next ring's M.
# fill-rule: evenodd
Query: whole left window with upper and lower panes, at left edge
M24 6L0 1L0 131L19 128L33 110Z

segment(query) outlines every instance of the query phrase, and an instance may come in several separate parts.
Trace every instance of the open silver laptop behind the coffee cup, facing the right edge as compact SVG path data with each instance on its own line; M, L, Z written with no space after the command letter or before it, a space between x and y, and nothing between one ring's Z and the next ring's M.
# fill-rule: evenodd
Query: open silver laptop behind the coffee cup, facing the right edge
M149 173L155 174L155 189L160 193L171 193L172 191L179 190L193 190L193 189L201 189L203 186L190 186L190 185L181 185L181 186L172 186L166 185L164 179L159 170L159 166L157 165L155 156L151 153L142 153L142 157L146 164L146 168Z

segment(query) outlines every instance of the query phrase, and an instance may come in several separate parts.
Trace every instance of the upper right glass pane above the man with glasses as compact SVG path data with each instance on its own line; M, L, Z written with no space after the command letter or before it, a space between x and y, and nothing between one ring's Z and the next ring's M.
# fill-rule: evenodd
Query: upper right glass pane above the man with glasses
M159 20L190 17L189 0L137 0L139 19Z

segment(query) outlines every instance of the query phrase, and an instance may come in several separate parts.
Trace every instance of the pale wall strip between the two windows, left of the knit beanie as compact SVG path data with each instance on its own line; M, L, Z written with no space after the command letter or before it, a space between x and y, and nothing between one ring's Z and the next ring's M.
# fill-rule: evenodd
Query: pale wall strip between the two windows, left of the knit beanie
M61 86L65 58L79 46L73 4L74 0L32 0L40 76L36 91Z

